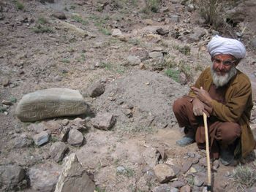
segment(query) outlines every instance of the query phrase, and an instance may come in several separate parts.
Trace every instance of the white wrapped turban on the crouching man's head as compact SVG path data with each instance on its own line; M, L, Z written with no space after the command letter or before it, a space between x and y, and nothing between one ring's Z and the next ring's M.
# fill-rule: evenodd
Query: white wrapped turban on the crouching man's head
M208 53L212 57L219 54L229 54L233 55L235 58L245 57L245 47L244 45L236 39L214 36L207 45Z

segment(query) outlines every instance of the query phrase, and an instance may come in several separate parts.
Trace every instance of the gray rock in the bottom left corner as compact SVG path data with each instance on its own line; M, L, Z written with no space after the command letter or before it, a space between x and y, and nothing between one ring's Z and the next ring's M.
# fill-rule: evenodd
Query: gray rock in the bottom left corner
M18 165L0 166L0 190L10 191L18 186L25 178L24 170Z

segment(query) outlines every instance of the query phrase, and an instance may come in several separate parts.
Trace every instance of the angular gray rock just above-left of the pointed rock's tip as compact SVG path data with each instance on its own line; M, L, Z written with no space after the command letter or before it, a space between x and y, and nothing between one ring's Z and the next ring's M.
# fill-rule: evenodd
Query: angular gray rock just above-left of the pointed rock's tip
M62 161L64 158L68 149L69 148L64 144L64 142L55 142L50 146L50 157L53 158L56 163L59 163L59 161Z

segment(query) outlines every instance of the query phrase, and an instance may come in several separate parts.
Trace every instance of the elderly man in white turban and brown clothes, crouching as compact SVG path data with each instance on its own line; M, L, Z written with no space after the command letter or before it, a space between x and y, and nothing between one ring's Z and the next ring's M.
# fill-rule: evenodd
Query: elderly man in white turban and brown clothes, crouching
M213 37L207 45L211 67L200 74L189 96L177 99L173 112L185 137L176 143L186 146L197 142L205 148L203 112L208 116L211 158L222 164L235 164L255 147L249 127L252 88L246 74L236 69L245 57L244 45L236 39Z

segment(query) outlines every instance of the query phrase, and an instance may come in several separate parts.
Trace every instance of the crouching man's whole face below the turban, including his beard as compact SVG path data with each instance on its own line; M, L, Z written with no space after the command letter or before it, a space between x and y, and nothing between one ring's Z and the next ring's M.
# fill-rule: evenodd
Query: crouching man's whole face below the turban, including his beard
M211 58L211 61L211 76L217 88L226 85L236 75L238 63L232 55L219 54Z

